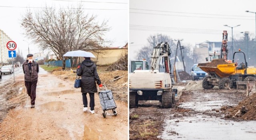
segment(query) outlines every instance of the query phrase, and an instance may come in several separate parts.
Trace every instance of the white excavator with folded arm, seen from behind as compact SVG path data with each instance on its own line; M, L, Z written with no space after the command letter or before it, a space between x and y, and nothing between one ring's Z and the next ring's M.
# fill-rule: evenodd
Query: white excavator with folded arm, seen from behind
M163 108L175 101L170 78L171 49L167 42L158 43L152 51L150 70L134 70L129 75L129 107L137 107L140 100L158 100Z

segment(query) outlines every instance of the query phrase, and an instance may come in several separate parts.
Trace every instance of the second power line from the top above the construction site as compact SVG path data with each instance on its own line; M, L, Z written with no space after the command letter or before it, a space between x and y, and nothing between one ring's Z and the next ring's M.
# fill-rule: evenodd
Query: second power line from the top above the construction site
M161 16L193 17L193 18L242 19L242 18L220 18L220 17L203 17L203 16L184 16L184 15L170 15L170 14L154 14L154 13L142 13L142 12L129 12L129 13L148 14L148 15L161 15ZM243 20L255 20L255 19L243 19Z

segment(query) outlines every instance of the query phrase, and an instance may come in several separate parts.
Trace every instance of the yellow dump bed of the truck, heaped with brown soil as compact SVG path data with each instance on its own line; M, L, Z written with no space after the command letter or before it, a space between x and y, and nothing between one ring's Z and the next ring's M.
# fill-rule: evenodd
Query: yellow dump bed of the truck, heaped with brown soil
M210 63L198 64L198 67L210 75L216 74L221 78L232 75L236 68L234 63L228 63L224 59L214 59Z

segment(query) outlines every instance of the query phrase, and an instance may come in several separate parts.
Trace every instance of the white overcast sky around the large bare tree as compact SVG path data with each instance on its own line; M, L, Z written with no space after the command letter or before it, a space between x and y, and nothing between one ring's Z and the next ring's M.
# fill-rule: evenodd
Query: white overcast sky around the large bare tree
M20 23L22 15L28 8L26 7L48 7L56 8L67 7L68 5L77 6L81 0L1 0L0 1L0 29L3 30L17 44L23 55L28 54L27 39ZM84 10L85 14L97 15L99 22L108 20L111 31L106 34L106 39L113 41L110 47L124 46L128 41L128 0L82 0L84 8L89 9L111 9L111 10ZM93 1L93 2L92 2ZM21 8L25 7L25 8ZM119 9L119 10L113 10ZM32 8L32 11L36 10ZM26 43L25 41L28 41ZM38 46L31 43L30 53L39 52ZM7 49L7 48L6 48Z

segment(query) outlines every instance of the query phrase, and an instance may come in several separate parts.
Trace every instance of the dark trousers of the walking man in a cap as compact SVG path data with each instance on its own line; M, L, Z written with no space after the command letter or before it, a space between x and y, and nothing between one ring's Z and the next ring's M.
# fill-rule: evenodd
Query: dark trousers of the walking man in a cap
M33 82L25 81L25 86L27 89L28 96L30 97L30 100L31 100L31 105L35 105L35 101L36 101L36 84L37 84L37 80Z

